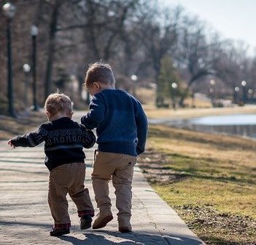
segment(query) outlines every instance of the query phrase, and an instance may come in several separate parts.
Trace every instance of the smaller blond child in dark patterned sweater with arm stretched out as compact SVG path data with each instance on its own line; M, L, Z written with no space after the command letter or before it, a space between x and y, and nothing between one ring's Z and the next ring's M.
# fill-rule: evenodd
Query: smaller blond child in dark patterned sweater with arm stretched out
M35 132L9 140L12 147L34 147L44 142L45 165L50 171L48 204L54 220L50 236L70 232L71 226L66 195L77 206L80 228L88 229L94 216L88 188L85 188L85 153L96 137L82 124L71 120L73 103L63 94L52 94L45 101L48 120Z

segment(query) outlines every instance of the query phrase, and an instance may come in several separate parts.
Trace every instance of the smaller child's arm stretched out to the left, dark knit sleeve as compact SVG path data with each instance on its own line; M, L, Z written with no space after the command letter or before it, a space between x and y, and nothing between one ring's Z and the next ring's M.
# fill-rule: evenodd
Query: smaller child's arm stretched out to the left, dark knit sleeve
M8 144L14 147L34 147L44 141L46 134L47 130L44 129L43 126L40 126L39 129L34 132L30 132L28 134L24 134L23 136L18 136L12 140L9 140Z

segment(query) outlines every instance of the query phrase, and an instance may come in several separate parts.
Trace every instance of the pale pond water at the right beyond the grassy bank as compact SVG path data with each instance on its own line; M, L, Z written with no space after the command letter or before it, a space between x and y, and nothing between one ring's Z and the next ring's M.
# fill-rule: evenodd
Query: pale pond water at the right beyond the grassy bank
M203 116L188 120L184 126L197 131L237 134L256 138L255 114Z

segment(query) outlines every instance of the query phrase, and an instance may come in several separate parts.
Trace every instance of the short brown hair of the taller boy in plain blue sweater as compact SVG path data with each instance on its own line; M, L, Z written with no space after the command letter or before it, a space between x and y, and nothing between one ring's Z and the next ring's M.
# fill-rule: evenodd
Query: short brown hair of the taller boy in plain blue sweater
M115 84L115 77L109 64L99 61L89 65L84 85L85 87L90 87L94 82Z

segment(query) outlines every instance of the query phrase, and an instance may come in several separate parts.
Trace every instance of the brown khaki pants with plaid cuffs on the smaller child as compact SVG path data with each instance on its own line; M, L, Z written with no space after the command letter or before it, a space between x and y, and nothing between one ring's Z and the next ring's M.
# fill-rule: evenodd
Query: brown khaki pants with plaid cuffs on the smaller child
M94 215L93 204L84 182L84 163L64 164L50 171L48 204L55 221L55 228L70 227L67 193L76 204L79 217L84 214Z

